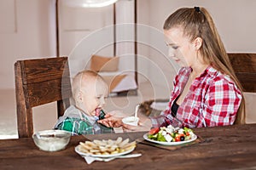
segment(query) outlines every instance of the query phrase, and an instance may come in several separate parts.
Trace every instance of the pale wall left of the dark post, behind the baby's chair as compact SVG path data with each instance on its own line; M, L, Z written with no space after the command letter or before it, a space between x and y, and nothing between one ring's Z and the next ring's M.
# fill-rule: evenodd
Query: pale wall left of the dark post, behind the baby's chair
M17 59L55 54L52 0L1 0L0 88L15 88Z

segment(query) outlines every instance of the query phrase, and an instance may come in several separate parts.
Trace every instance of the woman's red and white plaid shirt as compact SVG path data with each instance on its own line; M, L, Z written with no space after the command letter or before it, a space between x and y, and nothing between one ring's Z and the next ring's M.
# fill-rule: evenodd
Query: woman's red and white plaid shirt
M231 125L241 104L241 91L230 77L208 66L200 77L196 77L189 93L179 105L177 115L172 116L174 100L182 93L189 79L191 68L183 67L174 79L172 94L166 111L160 116L150 117L153 127L172 124L177 127L214 127Z

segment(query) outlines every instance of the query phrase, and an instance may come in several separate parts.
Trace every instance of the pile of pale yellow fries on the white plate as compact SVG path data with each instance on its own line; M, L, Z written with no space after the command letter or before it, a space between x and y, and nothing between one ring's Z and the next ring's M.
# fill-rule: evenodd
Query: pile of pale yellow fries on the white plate
M93 140L79 143L79 151L90 155L112 155L132 150L136 147L136 141L123 140L119 137L116 140Z

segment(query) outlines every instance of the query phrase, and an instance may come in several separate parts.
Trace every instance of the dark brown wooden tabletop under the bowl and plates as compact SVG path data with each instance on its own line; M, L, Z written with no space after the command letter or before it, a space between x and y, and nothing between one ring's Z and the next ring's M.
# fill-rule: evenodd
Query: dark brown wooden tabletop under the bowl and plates
M38 150L32 139L0 140L0 169L256 169L256 124L195 128L205 141L177 150L137 144L143 156L88 165L74 147L84 136L72 137L66 150ZM142 138L144 132L88 135L89 139Z

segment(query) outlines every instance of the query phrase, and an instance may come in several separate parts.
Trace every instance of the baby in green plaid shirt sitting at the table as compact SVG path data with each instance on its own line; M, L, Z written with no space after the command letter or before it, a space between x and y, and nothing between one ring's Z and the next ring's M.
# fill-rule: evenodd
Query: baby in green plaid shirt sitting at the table
M67 108L55 124L55 129L73 135L114 133L112 127L98 123L104 118L102 106L108 96L108 84L94 71L80 71L72 83L74 105Z

